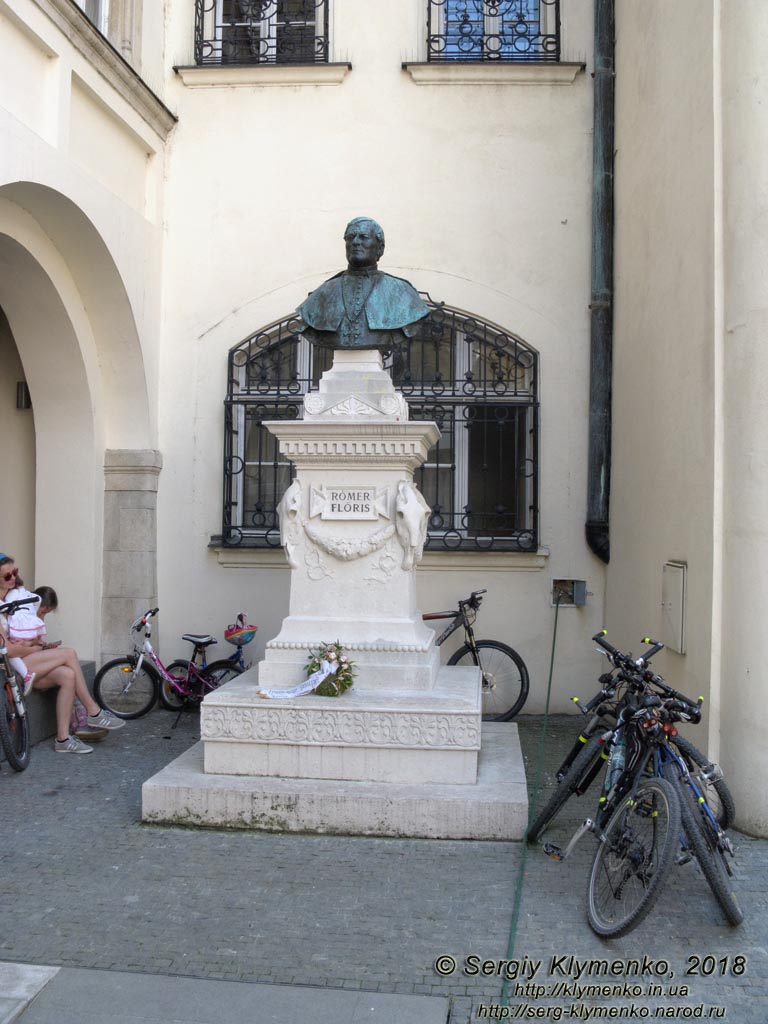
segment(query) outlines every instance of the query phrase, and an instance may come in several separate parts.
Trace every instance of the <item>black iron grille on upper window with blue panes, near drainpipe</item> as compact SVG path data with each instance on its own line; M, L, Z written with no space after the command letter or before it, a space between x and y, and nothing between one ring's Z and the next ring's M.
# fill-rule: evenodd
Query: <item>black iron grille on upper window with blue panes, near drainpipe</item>
M560 0L427 0L427 59L560 59Z

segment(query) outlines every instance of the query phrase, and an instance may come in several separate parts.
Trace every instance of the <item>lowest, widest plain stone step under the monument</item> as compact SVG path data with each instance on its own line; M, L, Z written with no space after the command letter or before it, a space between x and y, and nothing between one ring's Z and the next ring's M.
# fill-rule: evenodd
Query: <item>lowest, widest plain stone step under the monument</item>
M482 726L475 785L211 775L197 743L144 782L141 817L163 824L418 839L519 840L528 816L517 726Z

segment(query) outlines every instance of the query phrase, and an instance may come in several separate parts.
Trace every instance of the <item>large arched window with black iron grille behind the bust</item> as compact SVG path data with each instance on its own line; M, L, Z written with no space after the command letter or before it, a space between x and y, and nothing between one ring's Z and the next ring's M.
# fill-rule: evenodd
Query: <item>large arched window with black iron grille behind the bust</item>
M385 358L412 420L441 437L418 471L432 508L428 549L530 551L539 543L538 357L522 339L443 303ZM279 547L276 505L293 477L264 421L298 419L333 353L288 317L229 352L224 429L225 547Z

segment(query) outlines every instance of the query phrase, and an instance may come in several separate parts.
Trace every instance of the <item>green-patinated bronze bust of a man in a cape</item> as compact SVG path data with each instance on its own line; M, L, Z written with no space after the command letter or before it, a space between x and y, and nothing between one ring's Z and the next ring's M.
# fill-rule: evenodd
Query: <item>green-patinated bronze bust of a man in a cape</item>
M296 312L299 331L328 348L378 348L413 337L429 306L413 285L378 269L384 231L370 217L355 217L344 231L347 269L324 282Z

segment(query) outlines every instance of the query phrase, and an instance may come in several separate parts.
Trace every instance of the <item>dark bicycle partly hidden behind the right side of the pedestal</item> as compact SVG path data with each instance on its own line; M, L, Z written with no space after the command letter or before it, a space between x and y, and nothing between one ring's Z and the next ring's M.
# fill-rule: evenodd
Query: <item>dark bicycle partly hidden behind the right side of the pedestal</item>
M439 647L460 627L465 643L449 658L449 665L474 665L482 673L482 719L484 722L509 722L522 709L528 696L528 670L512 647L498 640L475 640L472 626L482 603L484 590L475 590L456 610L428 611L424 622L451 618L451 625L435 639Z

